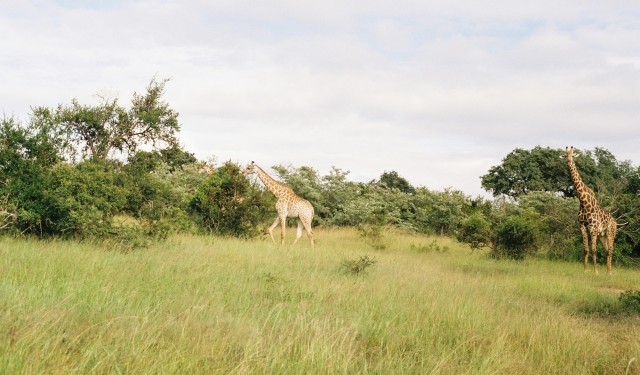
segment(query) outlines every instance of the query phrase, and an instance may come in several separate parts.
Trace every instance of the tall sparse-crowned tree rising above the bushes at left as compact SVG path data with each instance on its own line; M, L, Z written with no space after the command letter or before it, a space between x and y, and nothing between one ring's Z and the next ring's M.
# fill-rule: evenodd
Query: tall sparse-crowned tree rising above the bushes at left
M115 153L135 154L142 145L177 145L180 130L178 113L162 101L167 80L152 79L146 93L133 94L131 107L117 99L102 98L97 106L58 105L55 109L36 107L32 123L50 133L63 135L66 151L73 157L106 159Z

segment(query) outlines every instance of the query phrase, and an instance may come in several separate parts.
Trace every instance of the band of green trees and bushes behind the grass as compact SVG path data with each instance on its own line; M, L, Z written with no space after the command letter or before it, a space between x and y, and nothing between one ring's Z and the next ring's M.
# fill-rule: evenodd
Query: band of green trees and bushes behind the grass
M0 229L6 235L101 239L127 248L175 232L255 236L274 217L273 196L233 162L199 173L178 142L178 113L152 80L129 107L73 100L36 107L28 123L0 126ZM380 228L456 237L496 257L544 253L579 258L578 200L564 150L516 149L481 177L494 199L433 191L395 171L353 182L333 168L273 166L275 176L316 210L314 225ZM640 170L596 148L576 156L584 181L621 227L619 262L640 255ZM268 166L263 166L268 167Z

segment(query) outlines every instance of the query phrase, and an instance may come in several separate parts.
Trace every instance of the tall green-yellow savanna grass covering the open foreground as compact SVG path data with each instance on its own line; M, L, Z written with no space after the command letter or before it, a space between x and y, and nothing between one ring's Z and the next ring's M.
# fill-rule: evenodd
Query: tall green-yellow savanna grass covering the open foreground
M640 318L618 302L637 270L495 261L402 232L384 250L350 229L315 237L132 252L0 239L0 373L639 371Z

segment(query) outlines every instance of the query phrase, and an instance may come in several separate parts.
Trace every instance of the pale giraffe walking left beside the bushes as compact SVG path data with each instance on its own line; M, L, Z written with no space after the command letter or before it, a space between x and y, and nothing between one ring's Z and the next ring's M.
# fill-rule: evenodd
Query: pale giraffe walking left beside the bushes
M273 241L273 243L276 242L273 238L273 229L280 224L280 243L284 245L287 217L296 217L298 218L298 231L293 244L295 245L300 237L302 237L302 229L304 228L304 230L307 231L307 237L309 237L309 240L311 241L311 248L313 248L313 231L311 230L313 206L311 203L308 200L297 196L290 187L286 186L282 182L274 180L267 174L267 172L252 161L242 174L247 176L253 173L258 175L260 181L262 181L264 186L269 189L269 191L273 193L278 200L276 202L276 211L278 214L273 224L269 227L269 236L271 237L271 241Z

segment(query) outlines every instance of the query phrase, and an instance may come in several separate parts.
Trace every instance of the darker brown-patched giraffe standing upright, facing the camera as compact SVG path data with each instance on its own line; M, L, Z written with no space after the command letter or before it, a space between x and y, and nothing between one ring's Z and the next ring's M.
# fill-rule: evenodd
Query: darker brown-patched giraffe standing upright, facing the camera
M596 267L596 253L598 239L607 253L607 274L611 274L611 258L613 257L613 241L616 237L618 224L611 213L600 206L593 190L591 190L580 177L576 163L573 160L573 146L566 147L567 164L576 194L580 200L580 212L578 221L582 231L582 243L584 245L584 270L589 264L589 237L591 237L591 256L593 257L593 271L598 274Z

